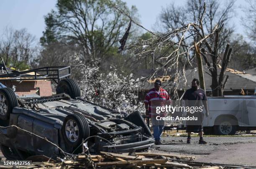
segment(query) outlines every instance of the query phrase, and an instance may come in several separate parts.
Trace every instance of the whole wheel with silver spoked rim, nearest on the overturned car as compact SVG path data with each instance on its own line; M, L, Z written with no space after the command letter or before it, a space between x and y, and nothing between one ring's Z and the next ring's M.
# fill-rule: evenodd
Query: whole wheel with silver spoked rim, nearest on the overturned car
M81 114L70 114L63 122L62 134L65 143L75 149L80 146L83 139L90 136L90 127L87 120Z

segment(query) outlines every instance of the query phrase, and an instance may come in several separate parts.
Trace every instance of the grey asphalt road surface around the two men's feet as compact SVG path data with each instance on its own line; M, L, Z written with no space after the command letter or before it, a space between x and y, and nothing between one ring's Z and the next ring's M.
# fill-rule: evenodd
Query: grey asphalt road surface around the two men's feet
M256 136L204 137L207 144L198 144L199 137L162 137L163 144L152 152L195 156L195 161L218 164L256 166ZM182 141L181 141L182 140Z

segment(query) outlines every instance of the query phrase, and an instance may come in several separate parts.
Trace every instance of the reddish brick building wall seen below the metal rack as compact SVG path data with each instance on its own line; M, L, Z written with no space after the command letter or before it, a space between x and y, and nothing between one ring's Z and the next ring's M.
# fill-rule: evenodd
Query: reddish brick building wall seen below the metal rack
M16 93L19 96L36 94L36 88L39 88L40 96L51 96L51 81L1 81L3 85L12 88L13 85L16 86Z

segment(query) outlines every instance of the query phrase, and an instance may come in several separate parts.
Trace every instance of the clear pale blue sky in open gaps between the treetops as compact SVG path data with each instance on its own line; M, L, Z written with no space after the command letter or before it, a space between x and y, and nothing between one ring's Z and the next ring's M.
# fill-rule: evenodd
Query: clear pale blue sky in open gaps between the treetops
M138 8L141 24L153 30L156 17L161 8L170 2L184 5L186 0L124 0L128 6L135 5ZM0 0L0 34L10 25L14 29L27 28L28 32L40 38L45 29L44 15L55 8L56 0ZM244 0L236 1L236 17L232 23L236 26L236 33L243 34L240 18L243 15L241 6Z

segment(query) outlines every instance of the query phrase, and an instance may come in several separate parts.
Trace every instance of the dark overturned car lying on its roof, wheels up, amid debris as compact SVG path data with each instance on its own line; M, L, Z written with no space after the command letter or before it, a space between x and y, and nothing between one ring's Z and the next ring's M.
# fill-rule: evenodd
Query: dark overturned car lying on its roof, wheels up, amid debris
M69 73L60 75L64 68L69 69ZM47 70L47 73L38 77L38 70ZM51 76L55 70L56 78ZM37 75L33 79L57 79L56 95L19 97L11 88L0 85L0 148L6 159L27 159L36 155L54 159L66 153L79 154L84 147L91 154L143 151L154 144L138 111L125 116L80 98L79 87L69 78L70 67L31 71ZM27 72L3 77L24 80Z

